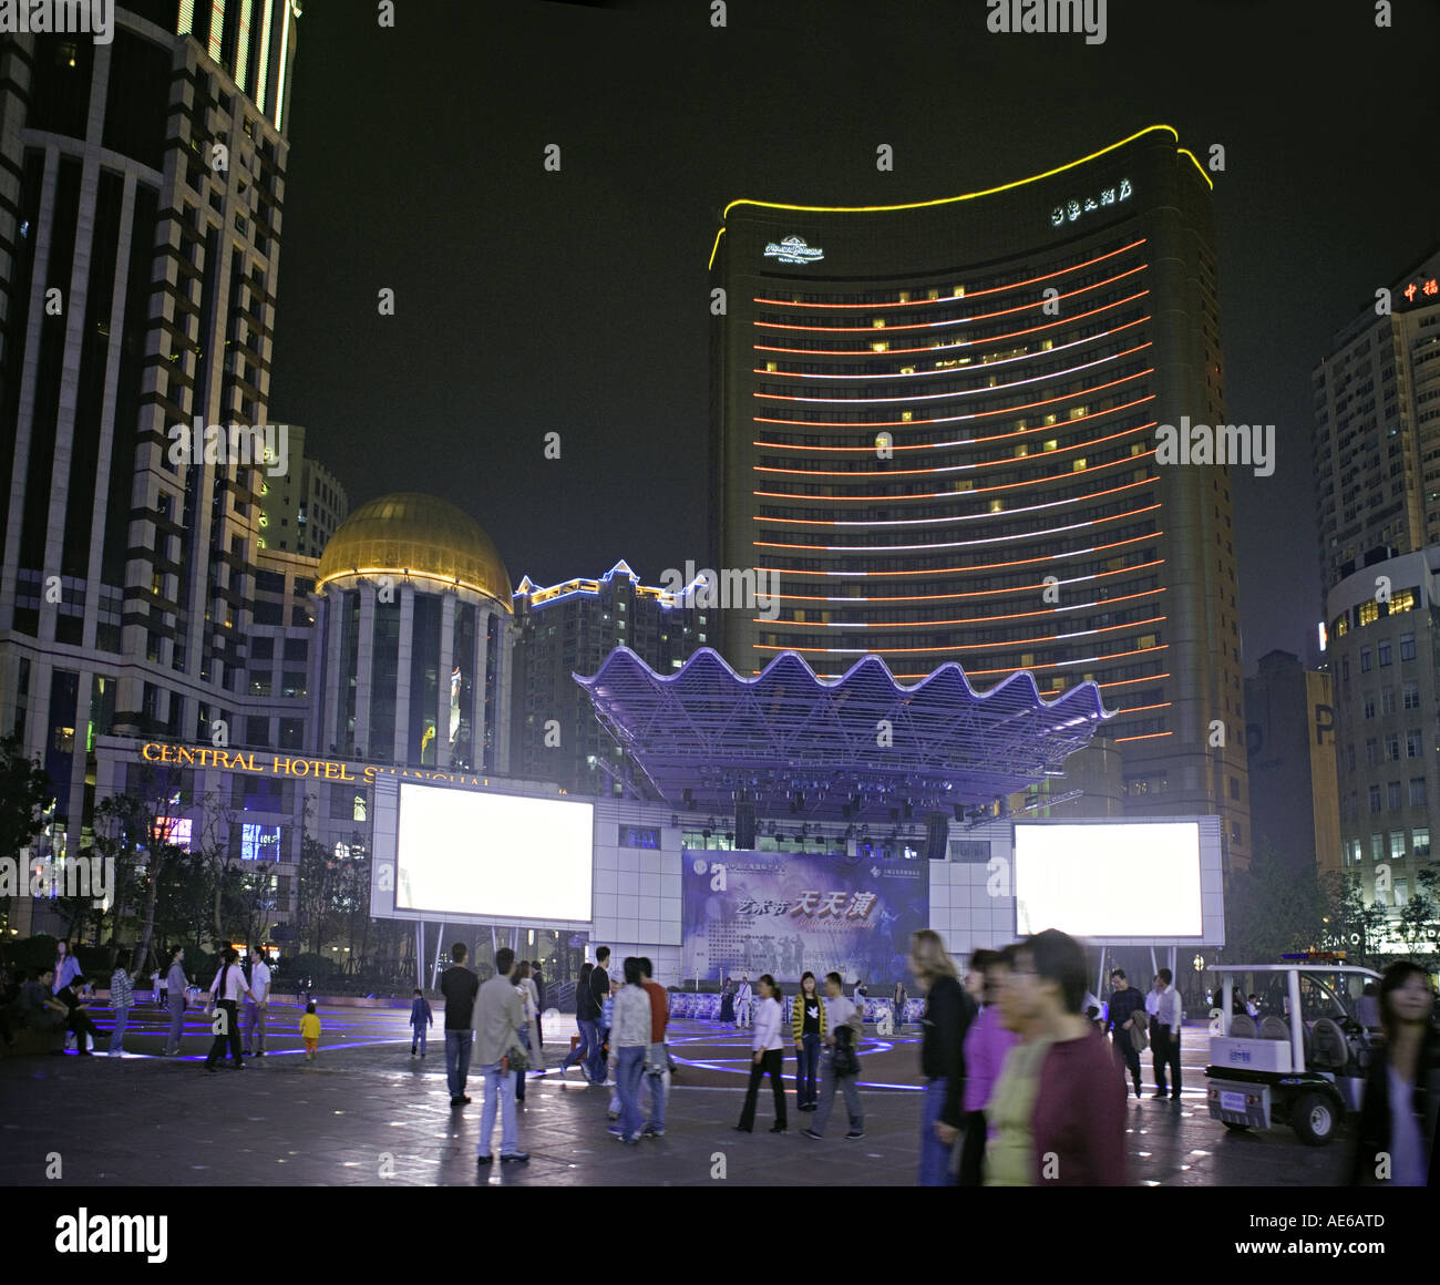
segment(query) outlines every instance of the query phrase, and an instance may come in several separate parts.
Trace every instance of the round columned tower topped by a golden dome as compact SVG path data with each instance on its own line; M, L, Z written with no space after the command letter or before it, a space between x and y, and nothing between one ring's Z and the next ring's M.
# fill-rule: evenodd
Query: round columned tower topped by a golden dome
M510 576L490 536L413 491L356 509L320 558L321 751L504 772Z

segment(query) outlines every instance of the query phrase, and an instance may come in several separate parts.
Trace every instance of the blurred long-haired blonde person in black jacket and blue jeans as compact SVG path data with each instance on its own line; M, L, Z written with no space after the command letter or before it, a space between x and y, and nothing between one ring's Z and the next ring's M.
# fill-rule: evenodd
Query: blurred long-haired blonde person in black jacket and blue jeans
M922 928L910 938L910 975L924 993L920 1018L920 1070L924 1106L920 1119L920 1186L955 1186L950 1148L960 1134L965 1103L965 1033L979 1008L955 975L955 961L940 935Z

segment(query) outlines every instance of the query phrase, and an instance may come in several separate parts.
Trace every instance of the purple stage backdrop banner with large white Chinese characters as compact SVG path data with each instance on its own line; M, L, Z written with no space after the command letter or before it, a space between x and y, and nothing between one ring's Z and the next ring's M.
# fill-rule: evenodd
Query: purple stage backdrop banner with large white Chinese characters
M684 975L838 972L894 985L929 923L930 863L808 853L687 851Z

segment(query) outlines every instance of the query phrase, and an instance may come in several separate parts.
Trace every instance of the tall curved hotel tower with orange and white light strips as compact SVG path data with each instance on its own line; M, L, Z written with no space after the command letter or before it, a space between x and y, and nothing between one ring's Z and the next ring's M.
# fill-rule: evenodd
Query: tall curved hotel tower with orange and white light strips
M963 196L732 202L711 556L776 592L723 612L742 671L1093 679L1126 810L1220 812L1244 866L1230 478L1156 460L1225 418L1210 189L1156 125Z

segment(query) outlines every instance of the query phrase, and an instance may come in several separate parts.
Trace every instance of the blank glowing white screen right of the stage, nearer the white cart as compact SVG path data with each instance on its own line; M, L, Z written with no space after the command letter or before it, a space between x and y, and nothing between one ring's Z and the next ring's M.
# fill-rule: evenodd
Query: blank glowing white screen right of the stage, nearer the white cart
M1200 936L1200 825L1017 825L1020 932Z

